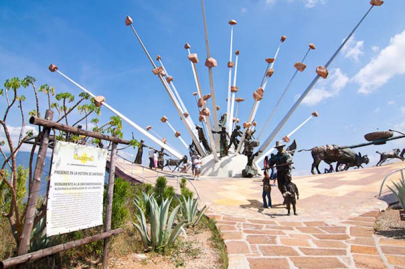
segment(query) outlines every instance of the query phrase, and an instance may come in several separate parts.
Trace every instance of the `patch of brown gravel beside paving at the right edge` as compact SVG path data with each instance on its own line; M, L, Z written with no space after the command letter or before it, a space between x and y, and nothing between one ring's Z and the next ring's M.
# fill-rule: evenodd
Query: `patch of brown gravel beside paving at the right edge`
M374 229L379 235L405 240L405 221L400 220L399 210L388 208L382 212Z

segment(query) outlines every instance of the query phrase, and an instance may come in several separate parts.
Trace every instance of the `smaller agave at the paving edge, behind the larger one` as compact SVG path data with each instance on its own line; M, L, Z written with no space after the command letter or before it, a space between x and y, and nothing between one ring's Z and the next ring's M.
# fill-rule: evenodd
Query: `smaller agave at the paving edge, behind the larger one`
M207 205L205 205L203 209L199 210L198 212L197 207L199 199L194 199L190 196L186 197L182 195L179 201L181 212L180 218L182 218L186 222L185 226L196 226L205 211L207 211Z

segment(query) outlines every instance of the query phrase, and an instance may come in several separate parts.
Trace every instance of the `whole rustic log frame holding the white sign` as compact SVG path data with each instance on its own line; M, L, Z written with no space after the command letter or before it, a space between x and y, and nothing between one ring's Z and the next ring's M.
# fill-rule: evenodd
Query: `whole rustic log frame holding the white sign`
M25 213L25 222L23 226L23 232L21 236L20 246L18 249L18 256L8 258L6 260L0 261L0 268L6 268L21 263L25 263L30 260L35 260L48 255L58 253L63 250L67 250L73 247L81 246L90 242L97 240L104 240L104 250L103 250L103 268L108 267L108 251L109 251L109 237L118 233L122 233L124 230L122 228L111 230L111 214L112 214L112 198L114 192L114 178L115 178L115 166L117 157L117 144L129 145L130 141L117 138L116 136L103 135L97 132L86 131L83 129L78 129L69 125L61 124L52 121L53 111L47 110L45 114L45 119L39 117L31 117L29 122L34 125L43 126L43 131L41 135L41 143L39 145L38 157L36 160L35 170L33 174L33 181L31 185L31 190L28 194L27 210ZM108 180L107 189L107 203L105 210L105 232L97 234L94 236L86 237L83 239L75 240L72 242L67 242L57 246L49 247L46 249L38 250L32 253L28 253L30 238L33 228L33 222L35 218L36 202L39 195L39 187L41 185L42 173L44 170L45 156L47 153L48 142L50 137L51 129L61 130L71 134L85 135L93 138L98 138L101 140L107 140L112 142L111 148L111 167ZM52 180L52 179L50 179Z

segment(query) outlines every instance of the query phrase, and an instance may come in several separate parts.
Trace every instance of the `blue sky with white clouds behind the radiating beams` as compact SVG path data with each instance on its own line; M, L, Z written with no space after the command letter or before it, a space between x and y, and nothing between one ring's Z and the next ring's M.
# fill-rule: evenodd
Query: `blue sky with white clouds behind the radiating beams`
M266 68L265 58L273 57L281 35L281 46L258 110L257 121L264 124L282 90L293 75L293 65L304 56L308 43L315 43L285 99L281 102L266 135L285 115L315 76L315 68L325 63L369 9L367 0L206 0L212 57L217 59L214 81L221 112L226 110L229 56L228 21L235 19L233 48L240 50L236 96L241 103L239 118L246 121L252 109L252 93L260 86ZM403 1L386 1L372 10L345 49L330 66L330 76L319 81L298 107L277 139L289 133L311 112L311 120L292 138L299 148L316 145L349 145L365 141L363 135L378 129L405 131L405 20ZM199 1L70 1L0 2L0 81L13 76L31 75L38 84L48 83L59 91L76 94L78 88L48 71L50 63L107 102L138 125L153 130L185 152L167 125L159 121L166 115L189 142L190 137L161 83L151 72L135 36L124 20L130 15L134 26L154 58L159 54L174 77L176 87L197 121L195 84L184 43L205 59L204 28ZM197 66L203 92L209 93L204 61ZM29 95L29 94L27 94ZM30 100L29 100L30 101ZM42 99L45 107L45 99ZM0 108L5 107L4 99ZM102 110L102 118L112 114ZM15 116L13 116L15 117ZM15 127L19 119L15 117ZM12 122L12 121L11 121ZM134 131L124 124L127 138ZM3 137L3 136L2 136ZM148 145L152 145L146 140ZM275 141L273 142L275 143ZM374 165L376 150L403 147L397 140L382 146L361 148ZM134 153L134 150L129 150ZM308 152L295 156L295 173L309 173L312 158ZM325 166L325 165L322 165Z

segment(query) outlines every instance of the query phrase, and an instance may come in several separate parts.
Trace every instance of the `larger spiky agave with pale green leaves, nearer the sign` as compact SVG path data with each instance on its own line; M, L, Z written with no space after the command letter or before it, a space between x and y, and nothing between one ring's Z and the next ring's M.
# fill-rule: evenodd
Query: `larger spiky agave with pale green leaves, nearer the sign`
M173 230L172 227L181 204L176 206L169 216L169 207L171 203L172 199L164 199L161 204L158 205L153 196L149 198L150 233L148 233L148 228L146 226L145 214L143 213L142 208L135 203L135 206L139 211L139 214L135 214L139 225L136 223L132 224L138 230L145 248L161 249L164 247L170 247L179 236L185 222L179 222Z

